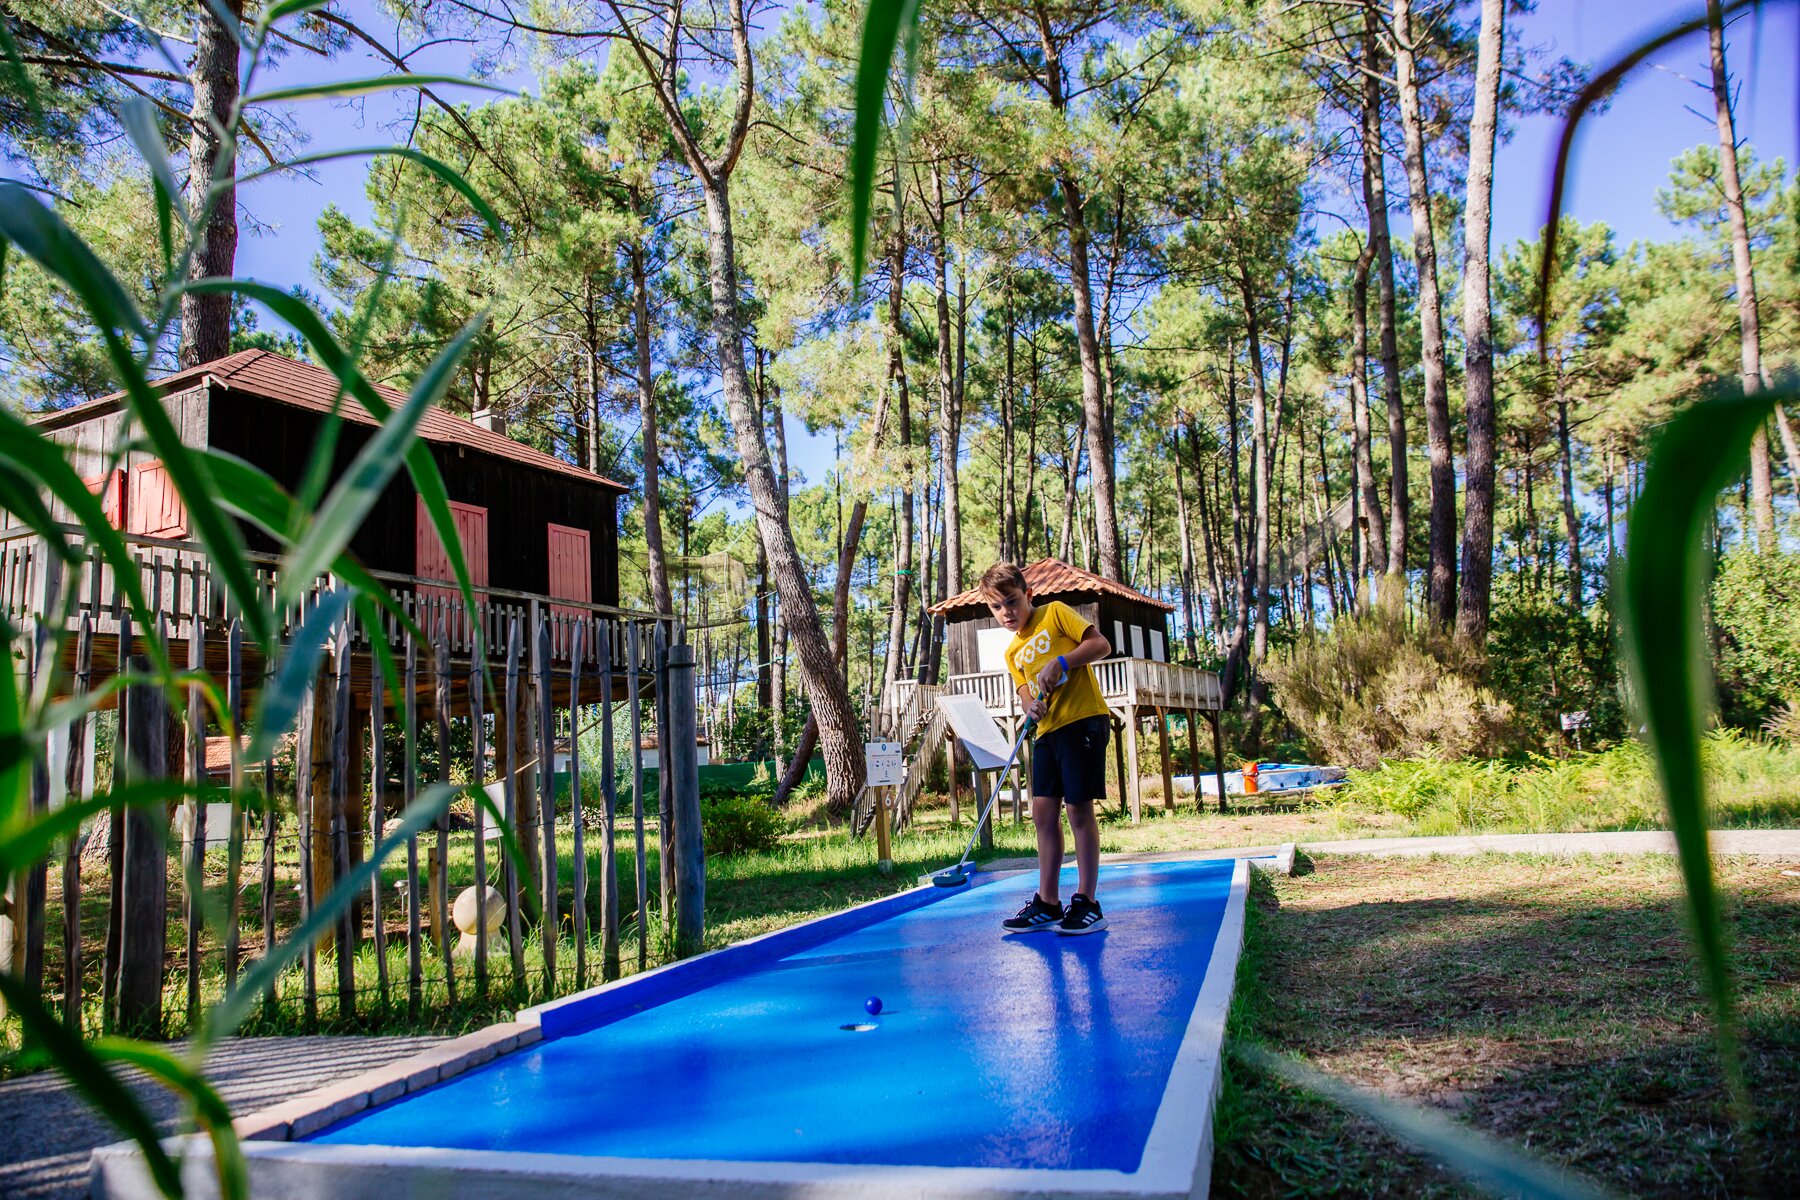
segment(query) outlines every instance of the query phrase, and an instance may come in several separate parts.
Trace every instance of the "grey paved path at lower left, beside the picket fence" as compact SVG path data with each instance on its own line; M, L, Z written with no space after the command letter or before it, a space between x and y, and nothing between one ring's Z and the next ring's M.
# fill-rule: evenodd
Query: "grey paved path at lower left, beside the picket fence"
M234 1114L385 1067L443 1038L232 1038L212 1051L207 1076ZM126 1081L158 1124L175 1132L175 1096L137 1072ZM0 1083L0 1200L81 1200L88 1151L119 1141L56 1072Z

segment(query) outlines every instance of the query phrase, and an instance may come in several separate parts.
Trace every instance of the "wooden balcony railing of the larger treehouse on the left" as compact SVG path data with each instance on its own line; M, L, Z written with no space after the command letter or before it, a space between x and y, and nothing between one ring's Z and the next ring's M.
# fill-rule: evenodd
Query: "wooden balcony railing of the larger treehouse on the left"
M81 540L79 525L65 525L63 529L72 540ZM214 578L212 561L203 545L139 534L121 536L124 536L137 563L139 587L149 612L166 621L167 637L185 640L196 622L202 631L218 630L239 615L238 606ZM56 606L56 597L63 588L72 588L72 622L88 615L95 633L115 633L130 608L128 592L121 585L115 567L97 545L86 543L83 551L81 565L67 569L56 556L49 554L43 540L32 531L0 531L0 613L14 626L36 622L41 613ZM331 576L319 576L301 588L297 597L279 601L281 560L270 554L245 554L245 565L256 583L256 603L274 613L275 630L283 637L302 624L320 596L338 587ZM623 667L626 658L625 626L659 621L655 613L491 587L473 588L475 617L470 621L461 597L443 579L382 570L369 574L387 587L394 606L414 621L427 637L443 628L450 653L459 660L473 655L477 631L488 658L497 660L506 653L513 619L518 619L524 628L535 630L538 615L544 615L549 626L551 657L556 662L569 662L574 630L583 626L581 660L598 666L598 648L605 644L612 664ZM661 621L670 619L661 617ZM398 648L403 631L405 622L400 615L383 610L374 628L356 622L355 644L373 648L374 639L380 637L387 646ZM679 633L677 624L670 630L668 640L680 640ZM648 666L646 646L648 639L639 639L639 666Z

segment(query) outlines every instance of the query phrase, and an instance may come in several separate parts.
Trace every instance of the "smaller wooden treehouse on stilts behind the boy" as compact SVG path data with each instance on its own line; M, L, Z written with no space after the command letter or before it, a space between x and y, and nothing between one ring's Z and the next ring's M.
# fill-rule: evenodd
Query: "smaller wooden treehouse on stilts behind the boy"
M1159 766L1163 774L1163 802L1175 806L1174 761L1168 748L1168 718L1183 714L1188 721L1190 770L1201 775L1199 739L1192 736L1195 721L1204 720L1213 734L1213 768L1224 772L1224 747L1219 736L1220 687L1219 675L1168 662L1168 613L1172 604L1145 596L1134 588L1102 579L1057 558L1044 558L1024 569L1033 603L1062 601L1080 617L1098 628L1112 655L1093 664L1094 682L1112 711L1112 752L1116 779L1123 781L1121 804L1132 820L1143 813L1141 738L1145 721L1154 721ZM907 750L907 775L900 788L896 817L911 811L913 801L925 784L931 763L940 752L952 756L952 806L958 790L954 738L938 712L941 694L981 696L988 712L1008 734L1017 736L1024 712L1006 673L1003 653L1012 633L988 612L981 592L972 588L952 596L931 612L945 621L945 682L941 685L898 680L889 684L877 711L877 730L900 741ZM1024 756L1021 756L1024 757ZM1030 763L1026 763L1030 772ZM1220 795L1224 792L1220 790ZM1015 817L1019 792L1013 795Z

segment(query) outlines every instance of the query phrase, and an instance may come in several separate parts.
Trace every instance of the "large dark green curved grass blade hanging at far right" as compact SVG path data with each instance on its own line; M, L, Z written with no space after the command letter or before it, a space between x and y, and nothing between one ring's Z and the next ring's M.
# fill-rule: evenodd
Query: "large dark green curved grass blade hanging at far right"
M1676 414L1663 428L1625 527L1618 583L1634 702L1676 838L1701 979L1712 1002L1719 1054L1741 1112L1746 1108L1737 1054L1737 1004L1726 959L1724 916L1706 846L1706 781L1701 730L1712 712L1712 648L1701 613L1712 552L1706 525L1719 491L1742 470L1750 439L1782 392L1715 396Z

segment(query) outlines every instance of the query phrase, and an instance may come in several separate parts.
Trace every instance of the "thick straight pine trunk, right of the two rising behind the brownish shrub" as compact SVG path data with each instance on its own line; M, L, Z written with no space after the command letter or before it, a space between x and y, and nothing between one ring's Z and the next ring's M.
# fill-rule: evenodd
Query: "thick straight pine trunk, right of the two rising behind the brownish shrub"
M1494 581L1494 340L1489 239L1494 223L1494 135L1505 22L1507 0L1481 0L1474 117L1469 121L1469 193L1463 207L1463 414L1469 426L1469 457L1463 462L1462 594L1456 597L1456 633L1476 648L1487 644L1489 594Z

